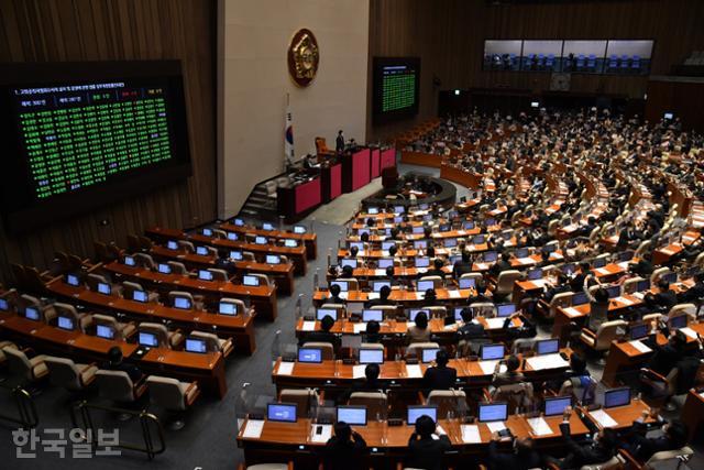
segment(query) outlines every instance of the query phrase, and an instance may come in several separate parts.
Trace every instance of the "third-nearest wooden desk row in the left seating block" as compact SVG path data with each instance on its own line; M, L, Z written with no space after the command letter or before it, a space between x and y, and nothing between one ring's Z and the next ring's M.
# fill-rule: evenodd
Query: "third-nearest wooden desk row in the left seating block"
M245 286L232 284L229 281L201 281L185 274L155 273L143 267L128 266L118 262L112 262L108 266L110 267L106 266L106 269L109 271L130 281L151 285L163 295L168 294L170 291L187 291L205 296L207 302L211 304L217 304L222 297L249 298L258 316L270 321L274 321L277 316L276 286ZM51 288L61 288L56 287L58 285L64 286L63 288L72 287L66 285L63 280L58 280L52 284ZM147 288L144 285L142 287Z

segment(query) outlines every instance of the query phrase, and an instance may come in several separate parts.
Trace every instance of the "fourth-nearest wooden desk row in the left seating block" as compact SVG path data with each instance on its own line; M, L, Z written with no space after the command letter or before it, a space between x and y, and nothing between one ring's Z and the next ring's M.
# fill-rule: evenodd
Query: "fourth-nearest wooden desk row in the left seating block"
M216 256L184 253L179 251L169 250L166 247L154 245L150 251L150 254L156 260L178 261L184 263L189 269L208 269L216 267ZM294 264L267 264L258 263L255 261L235 261L234 266L239 272L244 273L258 273L266 274L270 278L276 282L276 291L282 294L292 295L294 293Z

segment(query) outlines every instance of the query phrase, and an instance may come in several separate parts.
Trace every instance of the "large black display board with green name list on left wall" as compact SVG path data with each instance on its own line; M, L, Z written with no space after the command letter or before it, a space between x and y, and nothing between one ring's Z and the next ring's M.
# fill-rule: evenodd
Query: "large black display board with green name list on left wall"
M0 74L12 231L190 174L178 62L23 64Z

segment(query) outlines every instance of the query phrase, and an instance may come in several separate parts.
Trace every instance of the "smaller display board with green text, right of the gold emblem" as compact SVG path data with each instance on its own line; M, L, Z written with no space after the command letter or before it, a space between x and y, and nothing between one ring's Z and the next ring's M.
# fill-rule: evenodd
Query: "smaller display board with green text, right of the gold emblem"
M383 122L418 112L420 59L374 57L374 121Z

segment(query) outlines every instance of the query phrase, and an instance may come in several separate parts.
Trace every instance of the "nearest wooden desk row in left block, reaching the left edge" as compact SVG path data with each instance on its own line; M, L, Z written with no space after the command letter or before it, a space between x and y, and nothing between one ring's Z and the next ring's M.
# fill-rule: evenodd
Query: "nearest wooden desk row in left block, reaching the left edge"
M185 381L198 381L202 390L223 398L228 392L224 358L220 352L199 354L153 348L142 358L135 357L138 345L111 341L80 331L65 331L12 314L0 314L0 329L40 352L69 357L88 362L107 362L108 351L119 346L128 361L143 372Z

